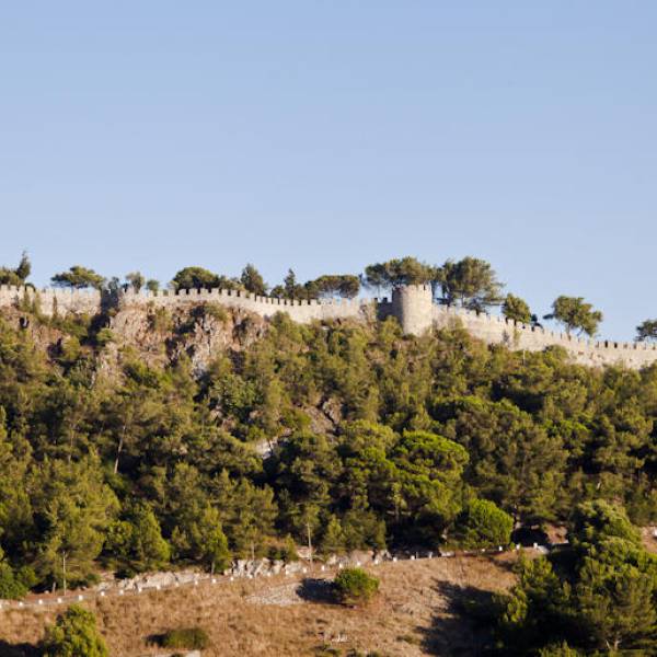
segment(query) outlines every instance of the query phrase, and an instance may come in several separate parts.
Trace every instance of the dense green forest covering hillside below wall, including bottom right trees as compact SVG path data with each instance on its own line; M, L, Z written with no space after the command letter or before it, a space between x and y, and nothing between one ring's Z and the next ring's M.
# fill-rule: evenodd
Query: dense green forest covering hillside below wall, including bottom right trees
M208 315L234 343L199 372L170 346ZM135 345L117 356L111 320L0 318L0 598L103 568L220 570L308 542L497 546L565 525L569 549L523 562L497 601L498 645L650 654L657 561L635 526L657 520L657 367L211 306L148 314L153 364Z

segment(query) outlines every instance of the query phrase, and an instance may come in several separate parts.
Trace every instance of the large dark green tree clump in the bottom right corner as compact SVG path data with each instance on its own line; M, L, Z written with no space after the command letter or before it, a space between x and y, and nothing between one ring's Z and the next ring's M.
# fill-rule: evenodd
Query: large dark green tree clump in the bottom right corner
M565 553L520 563L518 585L499 601L498 647L505 655L653 655L657 557L624 510L602 500L580 505L569 539Z

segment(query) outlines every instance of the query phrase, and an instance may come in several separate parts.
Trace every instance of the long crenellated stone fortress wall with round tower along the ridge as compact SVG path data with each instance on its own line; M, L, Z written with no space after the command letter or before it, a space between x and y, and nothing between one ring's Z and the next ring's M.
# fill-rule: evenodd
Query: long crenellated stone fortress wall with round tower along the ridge
M95 314L106 306L127 308L151 306L175 308L186 304L219 303L240 308L263 318L277 312L287 313L300 323L313 320L365 319L376 314L380 319L394 316L404 333L422 335L431 327L461 324L470 334L486 344L502 344L515 350L540 351L549 346L561 346L570 358L581 365L603 366L622 364L638 369L657 361L657 346L645 343L618 343L578 338L555 333L540 326L529 326L500 316L461 308L449 308L434 302L427 285L405 286L392 291L392 299L288 300L258 297L231 290L160 290L157 292L128 290L118 295L99 290L49 288L34 290L30 287L0 286L0 309L21 307L23 302L37 302L45 315L55 313Z

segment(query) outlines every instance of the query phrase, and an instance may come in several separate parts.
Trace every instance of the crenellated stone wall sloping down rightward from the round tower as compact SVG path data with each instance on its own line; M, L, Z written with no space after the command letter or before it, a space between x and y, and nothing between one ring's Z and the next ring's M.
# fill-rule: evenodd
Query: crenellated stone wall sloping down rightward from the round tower
M485 343L503 344L515 350L541 351L550 346L560 346L581 365L623 364L641 368L657 361L657 345L579 338L463 309L435 306L434 322L440 327L460 323L471 335Z

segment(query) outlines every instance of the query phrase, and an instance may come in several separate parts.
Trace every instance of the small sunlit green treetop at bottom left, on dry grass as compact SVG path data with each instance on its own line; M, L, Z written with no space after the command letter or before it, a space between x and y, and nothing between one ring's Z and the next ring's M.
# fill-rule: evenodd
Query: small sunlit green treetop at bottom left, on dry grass
M107 646L91 611L72 604L47 629L43 657L108 657Z

